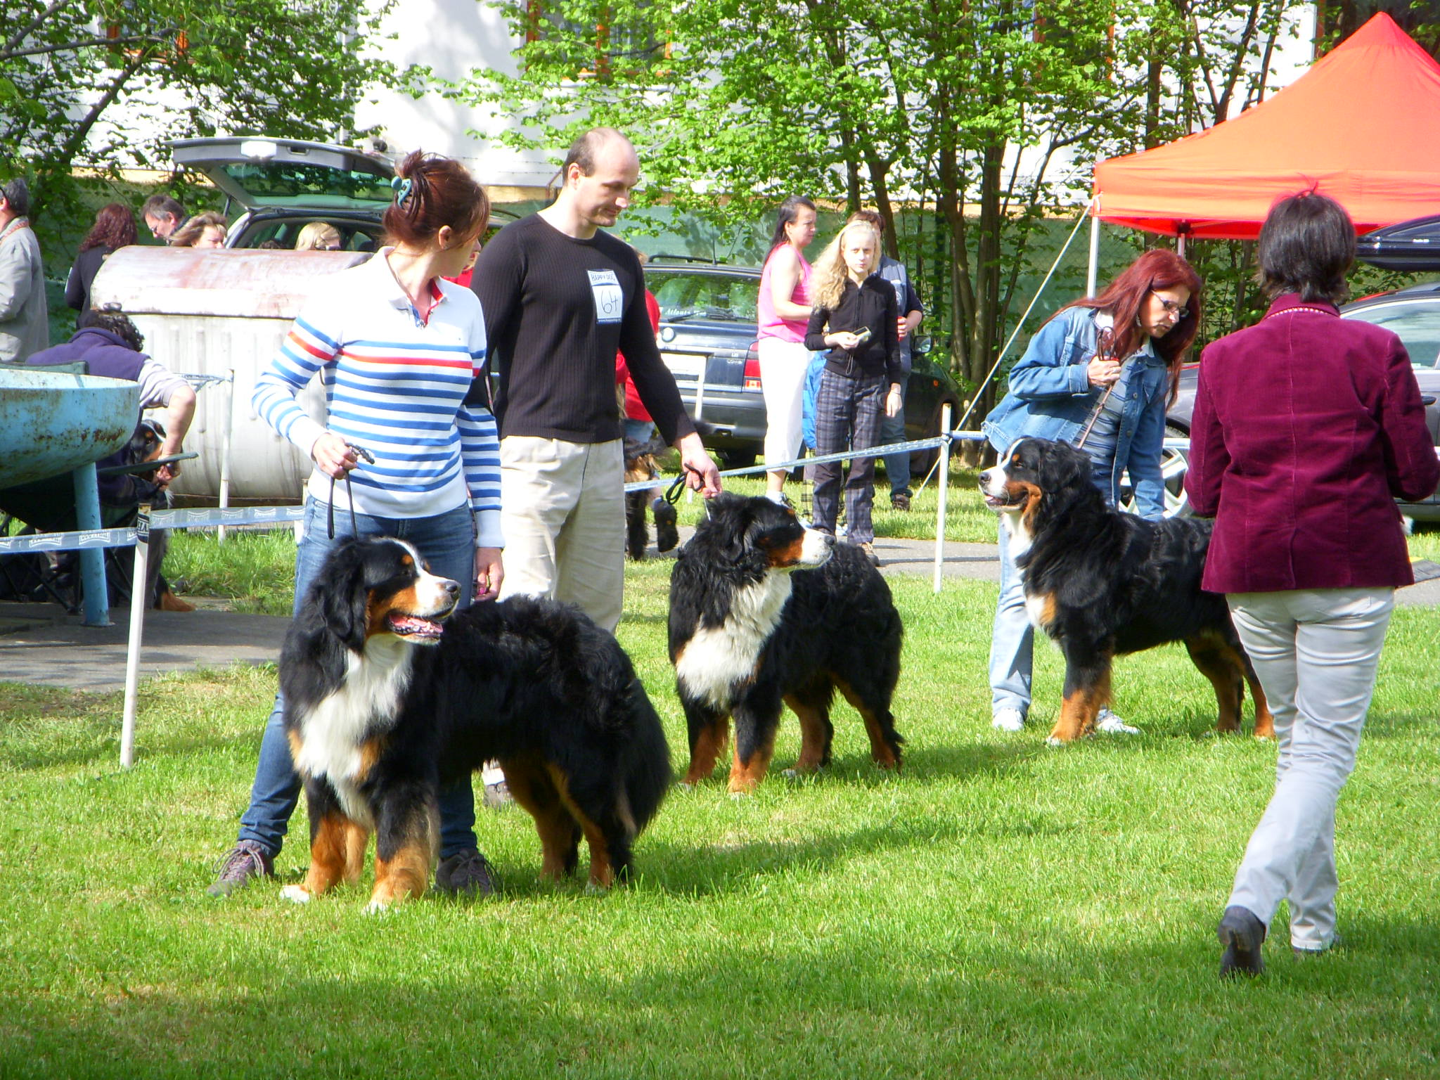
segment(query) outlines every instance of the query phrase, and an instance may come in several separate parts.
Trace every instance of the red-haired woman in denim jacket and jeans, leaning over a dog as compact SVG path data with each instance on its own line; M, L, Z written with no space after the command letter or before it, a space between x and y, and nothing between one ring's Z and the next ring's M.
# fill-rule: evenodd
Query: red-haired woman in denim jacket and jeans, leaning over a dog
M1005 454L1024 436L1074 444L1087 432L1083 449L1106 501L1115 505L1120 474L1129 471L1136 511L1162 517L1165 409L1175 399L1181 364L1200 327L1200 275L1185 259L1149 251L1099 297L1061 308L1030 340L1025 356L1011 369L1009 393L985 418L982 431L995 451ZM1034 628L1004 526L999 566L989 657L991 723L1018 732L1030 713ZM1136 733L1107 708L1096 727Z

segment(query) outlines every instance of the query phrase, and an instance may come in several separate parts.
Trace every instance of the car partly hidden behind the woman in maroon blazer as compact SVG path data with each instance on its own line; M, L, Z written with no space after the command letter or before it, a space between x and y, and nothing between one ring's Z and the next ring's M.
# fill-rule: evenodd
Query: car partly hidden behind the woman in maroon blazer
M1365 323L1392 330L1405 343L1410 363L1420 383L1420 395L1426 402L1426 423L1430 436L1440 445L1440 282L1411 285L1394 292L1365 297L1341 308L1341 318L1358 318ZM1200 364L1185 364L1179 379L1179 397L1165 415L1166 438L1189 439L1189 415L1195 406L1195 383ZM1184 448L1166 449L1166 513L1185 511L1185 491L1181 481L1185 477L1187 452ZM1440 521L1440 495L1431 495L1424 503L1401 503L1400 513L1418 521Z

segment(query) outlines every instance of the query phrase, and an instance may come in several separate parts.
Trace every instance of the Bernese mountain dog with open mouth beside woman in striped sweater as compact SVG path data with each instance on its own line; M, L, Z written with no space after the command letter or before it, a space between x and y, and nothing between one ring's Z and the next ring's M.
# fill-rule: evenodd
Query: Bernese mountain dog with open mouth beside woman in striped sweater
M592 888L670 785L670 749L629 657L575 608L516 596L456 612L462 585L402 540L336 544L281 651L285 733L310 808L305 901L353 883L376 837L370 910L429 884L439 785L498 760L536 819L546 877Z

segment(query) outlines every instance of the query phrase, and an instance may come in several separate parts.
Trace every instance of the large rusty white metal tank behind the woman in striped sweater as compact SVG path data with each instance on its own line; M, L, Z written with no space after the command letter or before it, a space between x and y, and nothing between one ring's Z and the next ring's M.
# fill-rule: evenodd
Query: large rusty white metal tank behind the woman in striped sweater
M207 374L233 384L199 392L186 449L171 491L216 497L220 491L225 410L230 409L232 500L295 500L311 462L251 409L264 372L310 294L328 276L364 262L361 252L199 248L121 248L95 275L91 301L124 311L145 336L145 353L179 374ZM318 380L300 396L321 423Z

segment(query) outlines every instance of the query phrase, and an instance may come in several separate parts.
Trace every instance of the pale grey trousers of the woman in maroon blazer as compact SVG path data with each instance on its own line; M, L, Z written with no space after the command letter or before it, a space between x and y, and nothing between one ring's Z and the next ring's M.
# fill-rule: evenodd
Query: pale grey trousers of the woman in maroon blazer
M1335 940L1335 802L1355 768L1394 589L1231 593L1236 629L1280 742L1274 795L1236 871L1230 904L1266 926L1290 901L1290 945Z

